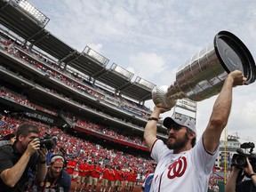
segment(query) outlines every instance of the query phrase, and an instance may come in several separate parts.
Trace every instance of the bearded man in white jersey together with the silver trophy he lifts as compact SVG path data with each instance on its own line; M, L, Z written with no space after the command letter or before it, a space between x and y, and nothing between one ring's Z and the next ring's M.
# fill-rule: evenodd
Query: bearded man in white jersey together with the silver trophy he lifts
M232 38L227 36L232 36ZM150 188L151 192L207 191L208 180L218 155L220 135L226 124L228 124L233 87L251 84L255 81L254 60L252 58L244 60L244 58L249 57L238 54L238 52L244 52L245 46L243 50L241 50L241 46L238 46L238 48L233 46L234 44L242 44L239 39L237 37L234 38L234 35L228 32L220 32L218 37L215 38L214 49L217 52L217 56L212 55L212 49L210 51L208 49L206 57L199 53L196 60L195 57L193 60L191 59L176 74L176 82L169 86L167 91L160 87L152 92L152 99L156 106L152 115L148 118L144 131L144 140L150 151L150 156L157 162ZM232 42L233 40L236 42ZM232 43L233 45L228 47L223 42L229 45ZM221 56L222 43L226 46L223 50L227 54ZM228 49L230 54L227 52ZM230 51L230 49L232 50ZM246 54L250 56L250 52L247 50ZM225 60L224 57L228 57L228 60ZM243 68L236 65L238 60L241 61L240 65ZM243 61L247 62L249 67ZM214 62L220 65L213 66ZM220 68L225 69L223 71ZM251 68L251 70L247 70L248 68ZM209 123L197 143L196 125L190 121L188 116L166 117L163 124L167 128L168 139L164 143L163 140L156 138L159 116L174 107L175 100L186 97L199 101L217 93L219 93L219 96L213 105Z

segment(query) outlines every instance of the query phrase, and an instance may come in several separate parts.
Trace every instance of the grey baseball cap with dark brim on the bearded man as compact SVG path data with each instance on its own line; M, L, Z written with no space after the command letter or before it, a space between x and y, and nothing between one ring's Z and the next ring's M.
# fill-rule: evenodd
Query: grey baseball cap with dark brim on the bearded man
M196 133L196 125L188 116L177 116L176 118L168 116L164 118L163 124L166 128L169 128L172 124L180 124L181 126L188 127L188 129Z

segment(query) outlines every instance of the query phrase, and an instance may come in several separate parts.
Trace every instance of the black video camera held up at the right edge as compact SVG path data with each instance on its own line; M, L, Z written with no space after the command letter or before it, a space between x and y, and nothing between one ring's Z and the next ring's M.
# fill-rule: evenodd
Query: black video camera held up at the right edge
M242 148L250 148L249 153L245 153ZM256 154L252 153L253 148L255 148L253 142L245 142L241 144L240 148L236 149L237 154L234 154L232 157L232 165L236 165L237 167L243 169L247 166L246 157L248 157L252 167L254 168L256 166Z

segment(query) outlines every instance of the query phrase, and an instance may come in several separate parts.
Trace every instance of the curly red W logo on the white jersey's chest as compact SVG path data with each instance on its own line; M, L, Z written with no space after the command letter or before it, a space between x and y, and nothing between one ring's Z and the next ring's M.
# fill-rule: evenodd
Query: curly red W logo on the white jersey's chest
M172 180L175 177L181 177L187 169L187 159L185 156L180 156L177 161L168 167L167 177Z

